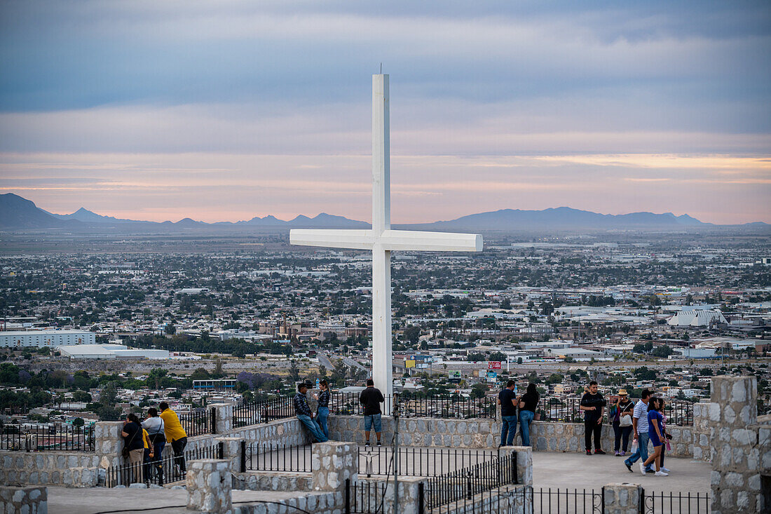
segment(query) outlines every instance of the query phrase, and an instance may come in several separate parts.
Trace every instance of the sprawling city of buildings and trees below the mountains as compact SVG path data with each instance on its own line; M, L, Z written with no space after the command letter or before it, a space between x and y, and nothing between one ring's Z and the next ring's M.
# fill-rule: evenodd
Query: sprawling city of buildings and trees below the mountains
M309 251L281 233L40 244L32 255L8 237L0 258L5 431L159 401L194 413L299 380L357 391L371 376L366 253ZM493 234L480 254L397 254L395 391L494 397L513 378L566 401L594 379L688 404L709 397L712 375L749 373L763 413L769 255L752 233L645 232Z

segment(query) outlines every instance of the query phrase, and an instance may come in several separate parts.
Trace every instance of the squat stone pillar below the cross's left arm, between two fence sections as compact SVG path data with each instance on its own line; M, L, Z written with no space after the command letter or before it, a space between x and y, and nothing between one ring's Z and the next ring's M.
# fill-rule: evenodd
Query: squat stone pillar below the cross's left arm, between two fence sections
M358 446L351 442L328 441L316 443L312 448L311 469L314 491L338 491L345 487L345 480L355 482L359 478Z

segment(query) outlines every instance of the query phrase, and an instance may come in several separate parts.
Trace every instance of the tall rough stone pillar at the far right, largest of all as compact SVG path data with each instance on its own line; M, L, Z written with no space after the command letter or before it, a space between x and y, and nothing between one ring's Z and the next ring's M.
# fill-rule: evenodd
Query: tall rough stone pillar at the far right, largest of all
M755 377L712 378L712 514L760 512L760 451Z

